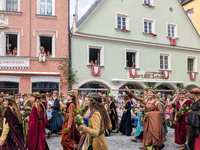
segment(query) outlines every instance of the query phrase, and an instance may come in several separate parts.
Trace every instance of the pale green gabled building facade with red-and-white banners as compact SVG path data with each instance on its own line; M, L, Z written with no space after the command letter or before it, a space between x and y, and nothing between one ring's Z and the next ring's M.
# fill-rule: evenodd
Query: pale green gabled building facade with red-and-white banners
M79 92L200 87L200 38L178 0L98 0L74 21L71 46Z

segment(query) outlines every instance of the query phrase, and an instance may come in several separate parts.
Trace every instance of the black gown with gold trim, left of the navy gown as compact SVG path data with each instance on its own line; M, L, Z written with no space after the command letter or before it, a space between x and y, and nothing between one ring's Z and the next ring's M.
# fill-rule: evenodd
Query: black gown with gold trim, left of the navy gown
M110 114L110 121L112 123L112 130L115 130L118 127L118 117L114 102L110 103L109 114Z

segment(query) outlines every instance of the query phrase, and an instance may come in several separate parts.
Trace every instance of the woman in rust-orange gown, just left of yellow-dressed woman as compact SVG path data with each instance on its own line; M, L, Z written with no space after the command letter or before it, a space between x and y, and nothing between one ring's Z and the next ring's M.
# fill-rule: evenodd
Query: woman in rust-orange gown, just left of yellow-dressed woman
M75 91L74 91L75 92ZM63 150L73 150L76 148L75 141L75 121L74 121L74 109L77 108L77 99L75 93L70 91L67 94L68 103L63 111L63 129L61 145Z

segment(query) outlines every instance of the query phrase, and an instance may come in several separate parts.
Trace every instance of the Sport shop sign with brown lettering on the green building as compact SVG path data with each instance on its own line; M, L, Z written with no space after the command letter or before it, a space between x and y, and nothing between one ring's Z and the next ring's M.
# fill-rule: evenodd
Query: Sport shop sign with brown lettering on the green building
M136 79L152 79L152 80L163 79L163 72L137 71Z

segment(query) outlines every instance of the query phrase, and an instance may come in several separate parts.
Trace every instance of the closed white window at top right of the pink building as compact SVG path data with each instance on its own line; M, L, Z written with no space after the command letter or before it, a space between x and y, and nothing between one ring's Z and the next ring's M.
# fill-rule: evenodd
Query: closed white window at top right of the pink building
M38 14L55 15L55 0L38 0Z

